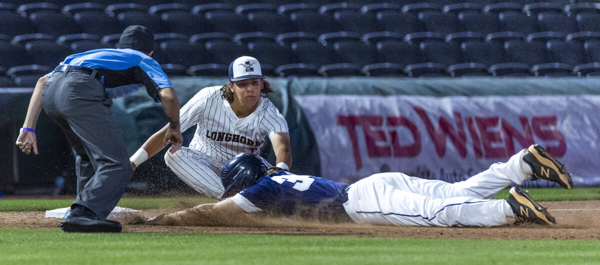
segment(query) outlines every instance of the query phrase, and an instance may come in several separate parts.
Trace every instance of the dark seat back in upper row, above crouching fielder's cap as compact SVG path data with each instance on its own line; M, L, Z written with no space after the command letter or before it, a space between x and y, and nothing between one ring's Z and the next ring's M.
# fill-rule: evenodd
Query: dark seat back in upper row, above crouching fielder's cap
M210 11L205 14L205 19L215 32L238 34L256 31L246 17L236 13Z

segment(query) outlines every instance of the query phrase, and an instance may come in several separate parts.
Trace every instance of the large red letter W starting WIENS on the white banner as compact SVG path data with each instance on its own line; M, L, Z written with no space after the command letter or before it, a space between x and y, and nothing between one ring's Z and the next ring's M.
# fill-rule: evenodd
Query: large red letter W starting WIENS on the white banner
M446 136L450 137L450 140L454 144L454 147L461 158L464 158L467 155L467 136L464 133L463 120L461 119L460 113L454 112L454 121L456 122L457 131L452 128L450 122L446 121L446 119L441 116L438 121L439 131L436 131L436 129L433 127L433 124L431 124L430 119L427 117L427 113L425 113L424 109L419 107L414 107L413 109L425 124L427 133L429 133L429 136L436 147L438 156L443 157L446 153Z

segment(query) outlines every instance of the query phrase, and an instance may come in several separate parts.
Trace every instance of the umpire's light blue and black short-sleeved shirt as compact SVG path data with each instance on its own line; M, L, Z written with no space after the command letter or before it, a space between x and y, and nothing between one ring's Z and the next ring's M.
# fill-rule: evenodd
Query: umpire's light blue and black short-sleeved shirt
M169 77L158 62L143 52L133 49L97 49L69 55L61 65L73 65L94 69L103 76L104 86L111 98L124 97L142 86L156 102L158 91L173 87ZM58 67L57 67L58 69ZM46 74L47 77L52 73Z

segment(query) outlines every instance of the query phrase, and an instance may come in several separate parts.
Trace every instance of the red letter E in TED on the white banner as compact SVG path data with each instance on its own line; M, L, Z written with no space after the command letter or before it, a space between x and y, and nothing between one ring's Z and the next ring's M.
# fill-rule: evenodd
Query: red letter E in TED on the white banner
M371 127L380 127L383 125L382 116L361 115L359 122L362 131L365 133L365 142L367 143L367 154L370 157L390 157L392 156L392 147L378 146L377 141L386 141L385 132L382 130L371 130Z

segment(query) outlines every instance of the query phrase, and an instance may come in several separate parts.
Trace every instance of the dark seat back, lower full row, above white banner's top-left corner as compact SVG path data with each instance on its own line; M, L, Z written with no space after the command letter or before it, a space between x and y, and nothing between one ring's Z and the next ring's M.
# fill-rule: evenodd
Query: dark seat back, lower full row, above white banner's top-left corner
M295 58L294 62L320 67L334 61L333 47L323 46L317 41L296 41L290 45L290 48Z

